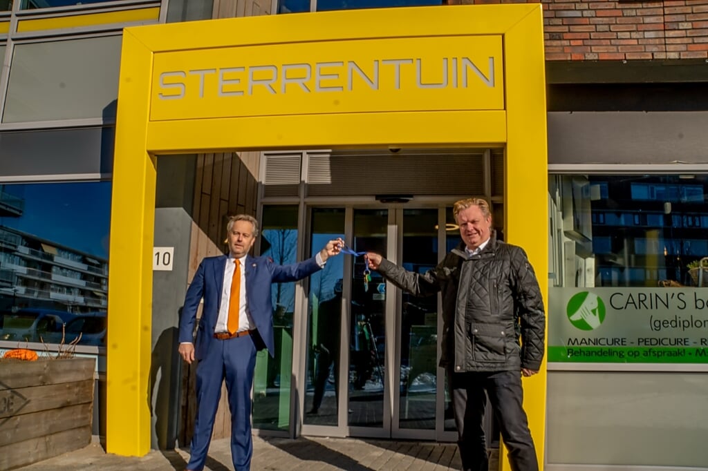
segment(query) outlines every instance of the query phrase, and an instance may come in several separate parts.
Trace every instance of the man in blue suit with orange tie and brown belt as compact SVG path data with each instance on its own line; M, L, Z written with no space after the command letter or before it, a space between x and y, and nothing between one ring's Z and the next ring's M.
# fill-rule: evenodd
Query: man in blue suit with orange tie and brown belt
M229 255L202 260L185 296L179 328L179 354L197 364L197 415L188 471L201 471L207 459L222 382L226 380L231 411L231 453L236 471L251 469L251 387L256 351L273 356L273 305L270 285L297 281L324 267L344 246L330 240L304 262L279 265L268 257L251 257L258 221L239 214L227 223ZM202 317L194 327L200 301ZM195 347L196 344L196 347Z

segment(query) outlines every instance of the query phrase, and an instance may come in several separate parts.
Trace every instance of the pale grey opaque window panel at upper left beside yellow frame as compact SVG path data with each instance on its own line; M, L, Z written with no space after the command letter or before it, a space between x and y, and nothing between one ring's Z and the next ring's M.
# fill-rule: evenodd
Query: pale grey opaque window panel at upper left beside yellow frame
M115 117L120 36L15 46L3 122Z

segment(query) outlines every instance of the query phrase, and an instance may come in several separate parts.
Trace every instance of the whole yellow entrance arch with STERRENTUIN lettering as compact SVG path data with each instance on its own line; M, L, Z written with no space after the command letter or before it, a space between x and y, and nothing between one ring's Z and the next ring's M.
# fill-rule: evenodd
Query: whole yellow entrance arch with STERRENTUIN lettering
M125 29L110 228L108 452L144 455L150 446L154 156L503 146L506 236L527 250L545 295L543 47L540 4ZM543 463L545 367L524 383Z

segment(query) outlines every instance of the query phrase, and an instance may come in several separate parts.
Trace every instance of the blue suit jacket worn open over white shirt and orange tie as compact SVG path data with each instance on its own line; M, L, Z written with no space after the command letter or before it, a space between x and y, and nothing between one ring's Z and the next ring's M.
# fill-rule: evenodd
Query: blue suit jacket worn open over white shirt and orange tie
M222 286L224 285L224 269L229 257L207 257L199 264L192 284L187 289L182 317L179 323L179 341L195 342L195 358L205 357L207 349L214 339L214 327L219 317L221 306ZM258 329L258 334L263 340L256 347L267 348L273 356L273 301L270 298L270 285L287 281L297 281L308 277L320 269L315 257L304 262L279 265L269 257L246 256L246 302L249 313L256 325L251 329ZM202 317L197 327L196 341L193 339L194 323L197 318L197 309L200 300L204 298Z

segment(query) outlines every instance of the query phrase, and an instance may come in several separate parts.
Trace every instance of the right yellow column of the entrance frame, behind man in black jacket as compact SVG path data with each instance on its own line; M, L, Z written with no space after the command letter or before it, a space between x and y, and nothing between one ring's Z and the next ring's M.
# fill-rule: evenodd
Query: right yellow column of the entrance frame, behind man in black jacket
M504 36L507 146L504 175L506 236L523 247L533 265L548 306L548 162L546 83L542 7L537 5ZM539 374L523 378L524 408L544 465L546 361ZM506 450L500 450L506 456ZM510 470L506 457L501 470Z

